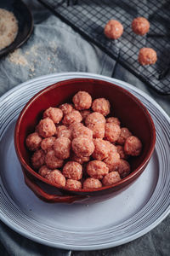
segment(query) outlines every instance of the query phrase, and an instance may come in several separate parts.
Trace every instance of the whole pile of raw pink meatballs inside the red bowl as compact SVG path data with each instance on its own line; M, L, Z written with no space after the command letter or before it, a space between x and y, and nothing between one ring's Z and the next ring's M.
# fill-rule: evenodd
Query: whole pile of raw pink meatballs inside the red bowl
M26 137L31 166L65 189L99 189L121 181L131 172L128 157L141 153L139 138L110 116L107 99L93 101L78 91L72 102L46 109Z

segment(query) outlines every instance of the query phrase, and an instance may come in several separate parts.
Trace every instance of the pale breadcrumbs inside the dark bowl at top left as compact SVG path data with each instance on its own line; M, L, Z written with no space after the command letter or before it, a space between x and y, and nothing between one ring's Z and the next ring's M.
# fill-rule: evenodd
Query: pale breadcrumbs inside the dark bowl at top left
M0 50L14 42L18 33L18 21L14 14L0 9Z

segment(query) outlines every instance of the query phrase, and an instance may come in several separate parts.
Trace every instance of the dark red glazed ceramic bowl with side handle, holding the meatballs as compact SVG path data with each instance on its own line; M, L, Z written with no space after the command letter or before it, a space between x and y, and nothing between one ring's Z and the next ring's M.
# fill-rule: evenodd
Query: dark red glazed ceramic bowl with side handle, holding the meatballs
M31 168L30 152L26 149L26 137L34 131L49 107L56 107L64 102L71 102L77 91L86 90L95 98L105 97L111 102L112 115L121 120L133 135L143 143L142 153L133 157L130 165L132 172L119 183L101 189L65 189L41 177ZM144 105L122 87L97 79L71 79L48 86L33 96L23 108L14 131L14 144L26 184L42 200L48 202L103 201L126 189L139 175L144 172L156 142L154 123Z

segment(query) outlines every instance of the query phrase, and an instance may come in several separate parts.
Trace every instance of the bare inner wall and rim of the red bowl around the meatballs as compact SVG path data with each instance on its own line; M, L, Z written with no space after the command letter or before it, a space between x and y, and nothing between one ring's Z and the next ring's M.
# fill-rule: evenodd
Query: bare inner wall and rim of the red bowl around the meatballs
M14 142L20 163L31 176L37 177L45 183L46 179L37 174L30 163L31 154L26 149L26 137L35 130L35 126L42 118L42 113L49 107L57 107L64 102L71 102L72 96L77 91L85 90L93 97L105 97L111 102L111 115L121 120L122 127L127 127L134 136L139 137L143 143L142 153L138 157L130 160L132 173L110 187L116 187L123 183L130 183L150 160L156 142L156 131L154 123L144 105L139 100L122 87L98 79L71 79L48 86L31 98L30 102L20 113L20 117L15 126ZM56 186L57 187L57 186ZM122 187L122 186L121 186ZM103 187L98 190L107 189ZM65 189L69 190L69 189ZM82 192L91 191L81 189Z

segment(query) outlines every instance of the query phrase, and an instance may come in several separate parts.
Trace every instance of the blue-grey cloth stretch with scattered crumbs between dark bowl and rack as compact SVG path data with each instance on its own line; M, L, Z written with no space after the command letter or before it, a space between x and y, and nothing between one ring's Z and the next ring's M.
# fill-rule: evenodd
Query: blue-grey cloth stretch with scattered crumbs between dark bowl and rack
M33 9L33 8L32 8ZM49 73L89 72L111 76L115 61L54 15L33 9L31 38L0 61L0 95L17 84ZM45 20L40 20L44 16Z

